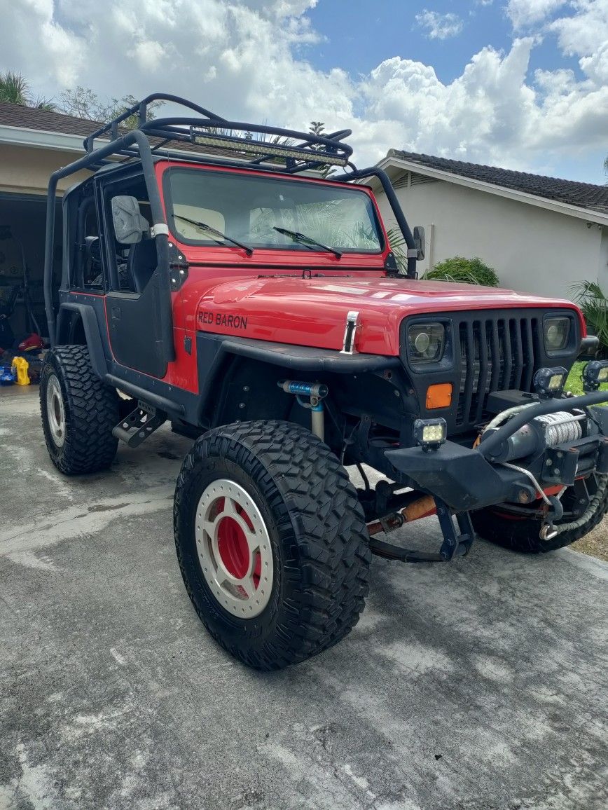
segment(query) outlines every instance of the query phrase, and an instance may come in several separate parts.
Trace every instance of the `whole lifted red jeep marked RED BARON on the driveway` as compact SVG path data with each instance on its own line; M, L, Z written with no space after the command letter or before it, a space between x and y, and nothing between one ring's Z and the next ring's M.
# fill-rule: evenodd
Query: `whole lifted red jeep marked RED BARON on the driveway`
M153 100L189 117L148 120ZM416 280L423 232L381 169L351 164L348 134L228 122L155 95L49 182L49 454L76 475L166 420L196 438L176 486L181 573L213 637L259 669L347 635L372 552L449 561L474 531L546 552L608 509L608 362L586 366L584 396L564 391L593 345L579 309ZM323 177L334 166L344 173ZM63 198L57 290L57 181L80 169L93 174ZM372 176L406 273L358 182ZM364 464L386 480L372 489ZM436 553L376 536L430 514Z

